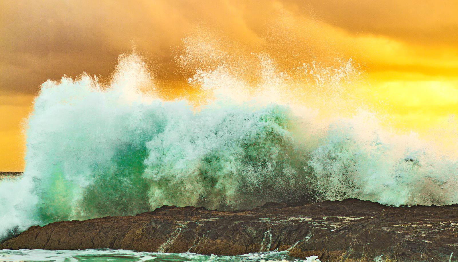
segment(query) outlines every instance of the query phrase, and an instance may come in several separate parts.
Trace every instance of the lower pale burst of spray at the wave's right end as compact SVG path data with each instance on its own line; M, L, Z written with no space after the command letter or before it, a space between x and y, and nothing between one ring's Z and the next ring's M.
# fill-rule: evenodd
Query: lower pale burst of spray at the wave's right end
M357 121L355 121L357 120ZM355 118L329 126L308 167L324 199L388 205L458 202L458 162L418 140Z

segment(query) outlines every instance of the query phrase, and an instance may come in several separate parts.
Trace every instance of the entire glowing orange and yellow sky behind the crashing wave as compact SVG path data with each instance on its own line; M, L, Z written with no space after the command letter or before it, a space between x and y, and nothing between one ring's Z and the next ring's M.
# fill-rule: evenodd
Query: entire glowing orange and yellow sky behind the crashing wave
M132 42L158 82L180 93L183 38L268 54L280 67L352 58L351 92L394 126L424 131L458 114L455 0L45 0L0 2L0 171L24 167L24 118L46 79L109 77Z

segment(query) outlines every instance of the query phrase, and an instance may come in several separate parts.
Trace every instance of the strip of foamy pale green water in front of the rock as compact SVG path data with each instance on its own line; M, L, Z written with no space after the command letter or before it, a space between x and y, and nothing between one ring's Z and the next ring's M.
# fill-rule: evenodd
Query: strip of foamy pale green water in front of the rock
M195 253L149 253L129 250L87 249L87 250L1 250L2 262L318 262L314 258L298 260L289 257L288 251L272 251L266 253L250 253L239 256L198 255Z

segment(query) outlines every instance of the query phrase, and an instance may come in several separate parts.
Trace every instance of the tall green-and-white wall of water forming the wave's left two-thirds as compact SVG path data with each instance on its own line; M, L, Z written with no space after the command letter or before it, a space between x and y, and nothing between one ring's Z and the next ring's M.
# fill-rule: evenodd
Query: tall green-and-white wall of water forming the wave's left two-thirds
M1 184L9 192L1 232L164 204L254 207L307 192L287 107L222 102L195 112L183 101L148 100L136 92L147 78L136 58L121 57L109 87L87 74L43 84L24 176Z

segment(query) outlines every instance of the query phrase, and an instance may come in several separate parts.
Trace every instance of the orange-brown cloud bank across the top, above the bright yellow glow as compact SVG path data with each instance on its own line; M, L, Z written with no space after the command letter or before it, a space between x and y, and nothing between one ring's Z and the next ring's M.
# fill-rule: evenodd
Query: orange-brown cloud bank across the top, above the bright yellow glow
M137 49L159 79L176 81L182 39L233 41L291 66L354 57L368 70L457 68L455 1L2 1L0 93L35 93L41 82L82 71L107 76ZM435 44L431 47L430 44ZM242 50L242 51L240 51ZM175 53L174 53L175 52ZM448 56L448 57L447 57Z

